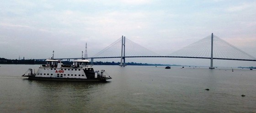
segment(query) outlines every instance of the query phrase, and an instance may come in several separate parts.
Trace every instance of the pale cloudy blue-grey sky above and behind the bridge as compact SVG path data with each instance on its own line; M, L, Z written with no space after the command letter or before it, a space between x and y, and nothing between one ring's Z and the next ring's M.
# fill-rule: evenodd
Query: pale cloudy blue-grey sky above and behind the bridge
M91 57L122 35L167 55L211 33L256 57L255 6L255 0L0 0L0 58L46 59L53 50L54 58L81 57L85 43ZM127 62L210 65L208 59Z

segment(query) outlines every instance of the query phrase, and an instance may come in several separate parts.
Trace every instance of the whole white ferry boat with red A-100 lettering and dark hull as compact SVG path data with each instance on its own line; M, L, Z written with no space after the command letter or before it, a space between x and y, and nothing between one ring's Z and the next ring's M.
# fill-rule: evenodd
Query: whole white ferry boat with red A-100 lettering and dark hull
M43 64L33 73L28 69L22 76L36 80L57 80L57 81L106 81L112 79L104 69L94 71L89 60L74 60L72 65L64 65L61 60L46 59Z

